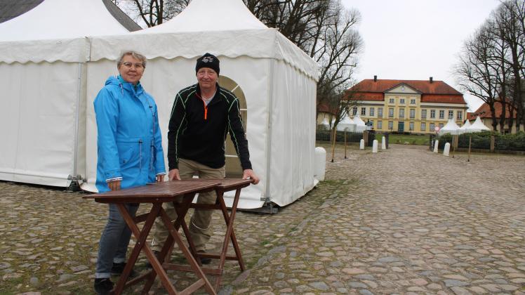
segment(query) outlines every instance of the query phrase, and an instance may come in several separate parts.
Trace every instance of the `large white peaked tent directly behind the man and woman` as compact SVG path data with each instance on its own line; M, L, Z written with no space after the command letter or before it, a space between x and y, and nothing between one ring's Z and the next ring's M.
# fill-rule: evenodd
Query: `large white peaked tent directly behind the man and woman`
M258 208L265 201L290 204L314 187L317 64L276 29L265 27L241 0L193 0L163 25L133 34L94 37L91 43L84 189L95 189L93 99L105 79L115 74L114 60L124 48L148 58L141 83L159 106L165 148L175 93L197 82L197 57L206 52L218 56L220 79L245 98L251 162L261 178L258 185L243 189L239 208ZM238 163L235 156L228 156L227 169L234 163Z

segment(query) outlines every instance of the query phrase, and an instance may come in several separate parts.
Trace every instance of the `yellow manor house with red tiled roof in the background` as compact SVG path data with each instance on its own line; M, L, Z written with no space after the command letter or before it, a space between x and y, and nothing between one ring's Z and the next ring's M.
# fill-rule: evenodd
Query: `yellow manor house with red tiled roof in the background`
M461 126L467 103L444 81L365 79L347 91L355 100L350 114L359 115L376 131L433 133L448 119Z

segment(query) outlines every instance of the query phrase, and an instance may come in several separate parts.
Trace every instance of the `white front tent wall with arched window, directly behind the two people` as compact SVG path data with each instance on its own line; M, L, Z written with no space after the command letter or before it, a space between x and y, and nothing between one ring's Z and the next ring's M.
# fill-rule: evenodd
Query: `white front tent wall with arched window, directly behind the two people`
M251 153L253 169L258 176L265 175L265 140L267 136L267 60L253 60L246 56L227 58L218 55L220 59L220 74L223 74L239 84L248 107L248 146ZM97 161L97 129L93 100L102 89L105 80L110 75L117 74L116 64L112 60L98 60L88 63L87 94L86 94L86 178L82 185L84 190L95 192L96 161ZM145 90L152 94L157 103L159 124L162 132L162 146L168 146L168 122L175 94L185 86L197 83L195 77L195 58L154 58L147 61L144 76L140 80ZM167 157L166 152L164 153ZM165 159L168 163L167 158ZM312 174L313 175L313 174ZM262 205L260 197L264 187L251 185L242 190L239 208L259 208ZM230 204L233 195L226 195L225 202Z

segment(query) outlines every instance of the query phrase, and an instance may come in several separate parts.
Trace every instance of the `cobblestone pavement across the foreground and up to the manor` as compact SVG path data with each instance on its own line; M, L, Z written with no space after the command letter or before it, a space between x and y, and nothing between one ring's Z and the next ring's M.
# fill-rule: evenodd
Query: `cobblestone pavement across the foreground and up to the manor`
M347 155L337 147L326 181L278 214L238 212L248 270L227 262L221 294L525 294L525 157L467 162L412 145ZM0 294L93 294L107 206L32 185L0 192ZM225 232L213 218L210 251Z

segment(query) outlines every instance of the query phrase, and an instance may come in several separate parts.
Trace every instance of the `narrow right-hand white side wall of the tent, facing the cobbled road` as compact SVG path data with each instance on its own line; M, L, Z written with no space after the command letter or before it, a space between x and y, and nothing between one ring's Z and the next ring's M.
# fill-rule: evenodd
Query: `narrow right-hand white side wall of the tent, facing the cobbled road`
M284 206L314 187L316 84L282 62L273 84L270 197Z

